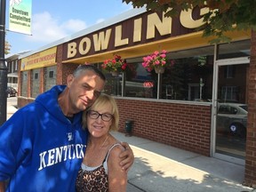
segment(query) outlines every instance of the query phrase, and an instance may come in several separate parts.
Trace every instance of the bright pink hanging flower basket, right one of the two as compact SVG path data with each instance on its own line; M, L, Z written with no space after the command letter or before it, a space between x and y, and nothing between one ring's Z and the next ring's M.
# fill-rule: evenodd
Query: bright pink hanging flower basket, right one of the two
M143 68L146 68L148 72L151 72L153 69L155 69L157 74L164 73L164 68L167 67L166 51L156 51L148 55L147 57L143 57L142 66Z

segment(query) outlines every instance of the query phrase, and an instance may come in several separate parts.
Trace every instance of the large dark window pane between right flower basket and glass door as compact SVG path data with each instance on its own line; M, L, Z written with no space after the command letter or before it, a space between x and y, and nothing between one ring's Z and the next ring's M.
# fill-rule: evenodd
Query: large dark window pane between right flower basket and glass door
M197 55L173 60L172 67L166 68L163 74L161 98L166 100L211 100L212 69L212 55Z

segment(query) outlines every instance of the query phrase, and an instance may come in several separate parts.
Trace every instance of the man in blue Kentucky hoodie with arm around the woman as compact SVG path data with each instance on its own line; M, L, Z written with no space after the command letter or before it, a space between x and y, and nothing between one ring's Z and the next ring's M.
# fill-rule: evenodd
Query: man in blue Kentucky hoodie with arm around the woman
M88 137L82 130L82 111L99 97L105 81L98 68L79 66L68 76L67 86L52 87L2 125L1 192L5 183L6 191L75 191ZM120 157L128 157L121 165L128 170L134 157L128 144L124 148L128 150Z

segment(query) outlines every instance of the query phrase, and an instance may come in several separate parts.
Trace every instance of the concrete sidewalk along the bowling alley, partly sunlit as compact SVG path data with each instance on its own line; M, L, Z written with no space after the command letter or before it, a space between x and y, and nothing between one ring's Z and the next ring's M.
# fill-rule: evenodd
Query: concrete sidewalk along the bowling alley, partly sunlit
M7 118L17 110L7 102ZM112 132L128 142L135 161L127 192L252 192L242 185L244 166L172 148L139 137Z

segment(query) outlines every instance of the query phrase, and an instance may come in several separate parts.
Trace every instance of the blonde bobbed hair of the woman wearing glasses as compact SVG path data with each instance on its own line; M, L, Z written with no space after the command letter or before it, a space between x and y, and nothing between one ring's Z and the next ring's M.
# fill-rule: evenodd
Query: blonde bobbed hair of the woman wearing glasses
M105 93L101 93L99 98L97 100L95 100L95 102L92 104L92 106L90 108L87 108L84 113L83 113L83 127L86 128L87 127L87 112L89 110L96 110L98 108L104 108L105 106L110 105L112 107L112 124L110 125L109 131L116 131L118 130L118 124L119 124L119 112L118 112L118 107L116 104L116 100L111 97L108 94Z

